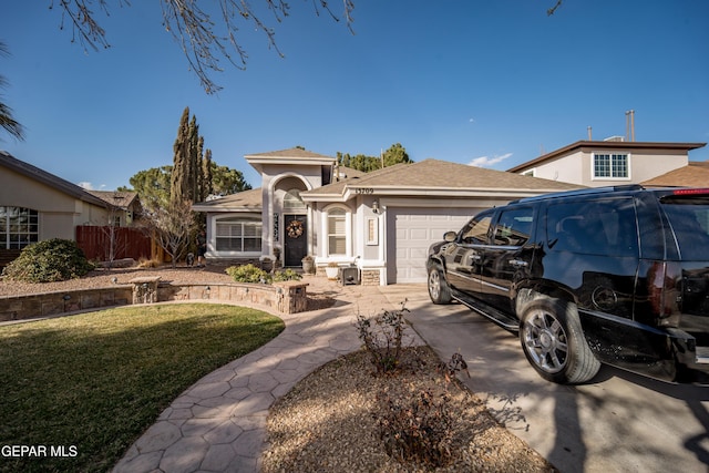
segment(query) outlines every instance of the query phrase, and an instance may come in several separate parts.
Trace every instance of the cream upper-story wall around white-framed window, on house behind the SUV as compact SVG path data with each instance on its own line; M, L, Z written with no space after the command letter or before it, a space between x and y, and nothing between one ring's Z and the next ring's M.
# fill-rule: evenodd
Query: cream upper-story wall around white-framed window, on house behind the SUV
M667 150L598 150L604 154L627 154L629 156L629 178L593 178L594 150L582 148L575 153L557 157L534 167L534 177L602 187L618 184L637 184L669 173L688 164L685 151Z

